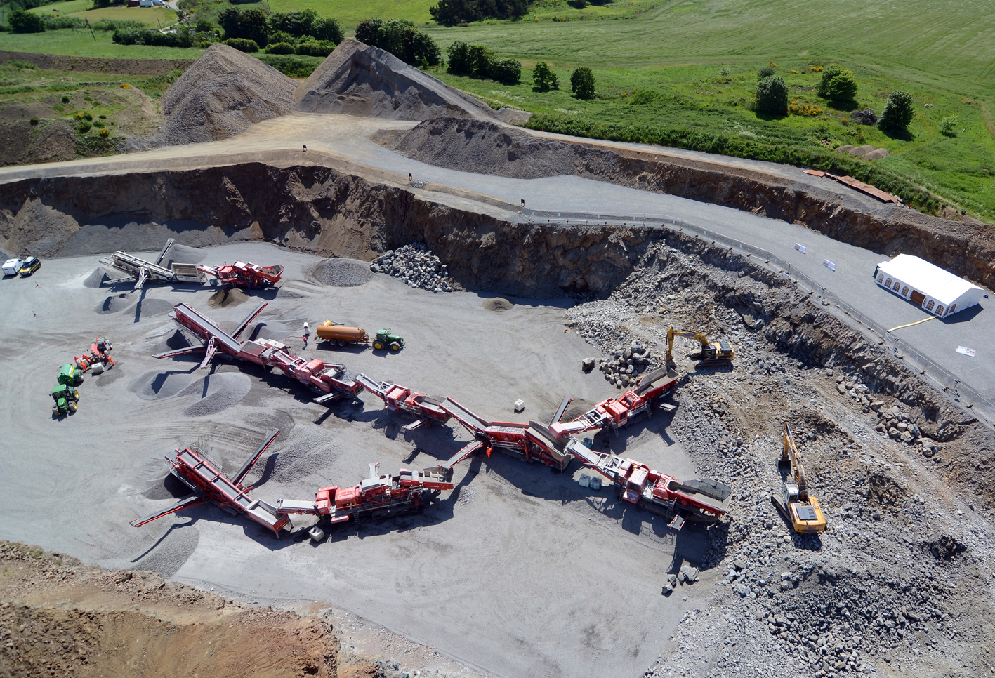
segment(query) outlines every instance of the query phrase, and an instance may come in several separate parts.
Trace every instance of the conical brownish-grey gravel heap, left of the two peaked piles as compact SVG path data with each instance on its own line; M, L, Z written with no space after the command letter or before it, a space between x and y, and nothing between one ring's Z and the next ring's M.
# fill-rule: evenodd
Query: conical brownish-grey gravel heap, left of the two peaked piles
M296 85L258 59L212 45L163 94L166 121L155 141L175 146L233 136L290 112Z

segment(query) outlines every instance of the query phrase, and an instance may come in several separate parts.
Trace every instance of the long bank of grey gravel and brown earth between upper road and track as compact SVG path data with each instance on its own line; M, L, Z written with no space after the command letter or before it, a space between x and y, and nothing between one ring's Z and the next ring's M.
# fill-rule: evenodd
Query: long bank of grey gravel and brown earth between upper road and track
M809 184L717 161L567 143L459 118L427 120L403 134L380 133L374 140L407 157L468 172L521 179L576 175L732 207L803 224L888 256L921 256L981 284L995 284L995 227L905 208L862 208L856 197L841 198Z

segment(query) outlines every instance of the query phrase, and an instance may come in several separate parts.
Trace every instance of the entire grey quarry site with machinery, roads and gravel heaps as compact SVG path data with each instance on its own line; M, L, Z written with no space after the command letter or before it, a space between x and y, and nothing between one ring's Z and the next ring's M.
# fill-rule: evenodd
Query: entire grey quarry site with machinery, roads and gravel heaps
M354 40L162 101L0 169L0 675L995 675L990 227Z

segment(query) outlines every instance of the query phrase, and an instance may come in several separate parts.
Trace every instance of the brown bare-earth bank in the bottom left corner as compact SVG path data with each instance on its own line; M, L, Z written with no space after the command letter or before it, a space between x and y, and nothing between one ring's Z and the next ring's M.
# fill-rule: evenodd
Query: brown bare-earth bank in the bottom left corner
M337 673L338 639L318 617L9 542L0 542L0 566L3 676L355 675Z

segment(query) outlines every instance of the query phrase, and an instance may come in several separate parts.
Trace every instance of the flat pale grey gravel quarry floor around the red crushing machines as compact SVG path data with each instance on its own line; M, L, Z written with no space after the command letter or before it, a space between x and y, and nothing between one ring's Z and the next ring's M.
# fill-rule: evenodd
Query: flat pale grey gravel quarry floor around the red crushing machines
M563 394L590 404L614 393L599 373L580 370L581 359L596 352L563 332L562 300L496 312L478 294L433 294L382 274L360 286L322 286L308 273L319 258L271 245L203 254L206 264L243 258L287 266L279 290L260 293L269 306L247 333L291 337L300 355L453 396L495 419L515 420L511 404L519 398L526 403L520 417L548 421ZM254 496L276 502L356 483L374 461L382 472L435 465L469 436L456 425L437 426L406 441L399 429L408 421L370 397L326 410L296 383L255 366L217 361L201 371L197 361L155 360L153 353L178 341L166 315L174 303L231 328L256 299L212 308L210 287L89 287L97 265L97 257L48 260L31 278L4 281L0 312L10 353L0 367L7 385L0 407L20 424L8 428L0 479L3 537L263 604L330 601L506 676L631 675L652 661L680 610L695 602L694 592L686 601L661 595L661 587L675 558L701 558L701 533L675 534L663 519L620 506L608 488L591 492L570 474L500 454L458 467L457 489L424 513L333 529L319 545L278 541L213 505L130 527L175 501L163 485L162 459L174 447L197 444L231 470L280 427L274 453L251 476L260 482ZM396 355L302 349L302 322L325 319L367 331L390 326L407 346ZM56 371L98 334L113 341L117 365L80 387L76 415L51 420L47 391ZM613 445L693 477L680 441L661 436L665 424L654 418Z

